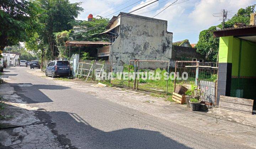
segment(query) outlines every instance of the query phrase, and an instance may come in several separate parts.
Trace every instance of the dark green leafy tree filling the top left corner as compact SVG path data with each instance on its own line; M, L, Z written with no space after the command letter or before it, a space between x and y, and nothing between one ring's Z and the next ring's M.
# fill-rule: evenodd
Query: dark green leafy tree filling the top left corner
M27 0L0 1L0 50L28 40L43 24L44 10L36 2ZM0 53L1 53L0 51Z

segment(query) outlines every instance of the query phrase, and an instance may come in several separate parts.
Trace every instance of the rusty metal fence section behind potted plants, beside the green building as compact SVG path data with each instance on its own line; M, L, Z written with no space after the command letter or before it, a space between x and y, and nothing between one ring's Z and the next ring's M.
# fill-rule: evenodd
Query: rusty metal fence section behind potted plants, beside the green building
M194 85L198 89L196 94L200 95L203 101L215 104L218 63L176 61L175 74L177 77L174 81L174 90L181 86L191 89ZM182 74L185 74L186 80L182 79Z

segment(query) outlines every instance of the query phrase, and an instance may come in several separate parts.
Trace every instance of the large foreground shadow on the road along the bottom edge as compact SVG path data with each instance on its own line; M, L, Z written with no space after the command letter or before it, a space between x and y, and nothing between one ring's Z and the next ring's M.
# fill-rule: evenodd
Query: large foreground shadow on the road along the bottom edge
M83 120L75 113L63 111L36 111L37 117L41 121L46 121L47 126L57 136L58 141L69 147L79 148L188 148L184 144L178 143L160 132L146 129L125 128L110 132L105 132ZM58 117L58 122L52 121L52 117ZM110 120L111 121L111 120ZM59 134L61 127L65 134ZM73 146L70 139L79 146Z

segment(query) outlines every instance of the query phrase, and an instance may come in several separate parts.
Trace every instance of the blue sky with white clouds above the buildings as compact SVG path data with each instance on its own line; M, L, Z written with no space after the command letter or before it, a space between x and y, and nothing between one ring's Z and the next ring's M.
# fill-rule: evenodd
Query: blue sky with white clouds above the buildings
M155 0L70 0L72 3L82 2L80 6L84 11L77 20L87 20L90 13L94 17L99 15L112 18L119 12L130 12L153 1ZM169 6L175 1L159 0L133 14L153 17L165 9L161 7ZM221 23L219 18L213 17L213 13L223 9L237 12L252 4L256 4L255 0L178 0L154 18L168 21L167 31L173 33L173 42L188 39L192 44L198 42L200 31Z

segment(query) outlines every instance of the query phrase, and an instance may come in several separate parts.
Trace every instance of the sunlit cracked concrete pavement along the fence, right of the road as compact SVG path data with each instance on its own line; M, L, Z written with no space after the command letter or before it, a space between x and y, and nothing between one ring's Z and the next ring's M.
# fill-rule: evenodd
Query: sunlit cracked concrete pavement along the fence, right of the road
M235 114L235 118L234 112L227 112L217 108L210 110L208 113L193 112L185 105L170 103L161 98L151 97L142 93L111 87L93 87L91 86L93 83L81 81L60 81L45 77L44 73L40 71L28 71L28 73L51 79L62 86L78 89L80 92L172 121L202 133L218 136L223 140L255 148L256 116L254 115L240 115L242 117L241 120L239 119L239 114ZM230 115L233 115L233 118Z

